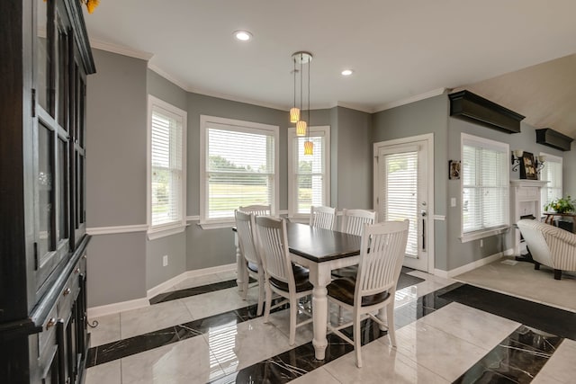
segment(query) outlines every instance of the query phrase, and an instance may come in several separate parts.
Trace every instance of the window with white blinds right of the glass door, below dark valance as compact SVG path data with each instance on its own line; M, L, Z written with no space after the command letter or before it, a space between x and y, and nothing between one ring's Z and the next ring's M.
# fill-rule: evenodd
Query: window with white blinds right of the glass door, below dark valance
M462 134L462 241L509 226L509 145Z

